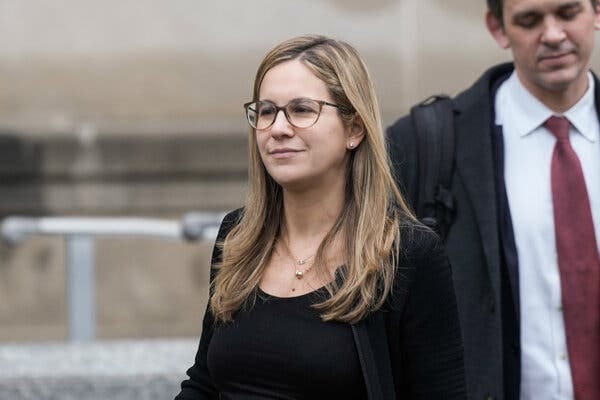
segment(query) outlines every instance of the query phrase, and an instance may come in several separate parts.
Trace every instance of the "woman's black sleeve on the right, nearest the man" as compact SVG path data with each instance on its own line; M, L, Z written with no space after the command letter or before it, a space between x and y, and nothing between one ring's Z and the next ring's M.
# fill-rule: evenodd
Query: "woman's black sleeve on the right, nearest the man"
M466 399L460 322L443 244L424 227L411 236L403 245L414 274L401 321L403 392L410 399Z

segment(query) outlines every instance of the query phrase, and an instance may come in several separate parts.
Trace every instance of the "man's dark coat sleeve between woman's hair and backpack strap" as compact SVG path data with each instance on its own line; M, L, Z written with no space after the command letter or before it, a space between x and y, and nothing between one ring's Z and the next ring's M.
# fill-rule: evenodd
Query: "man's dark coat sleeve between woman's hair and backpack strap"
M414 208L418 195L418 149L414 125L409 115L386 130L388 155L396 183Z

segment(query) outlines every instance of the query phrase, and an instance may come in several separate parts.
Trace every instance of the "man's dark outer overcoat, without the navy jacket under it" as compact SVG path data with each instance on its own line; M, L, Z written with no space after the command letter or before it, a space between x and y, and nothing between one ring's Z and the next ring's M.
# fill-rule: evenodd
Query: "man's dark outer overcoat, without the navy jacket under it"
M456 215L446 246L453 268L471 399L505 398L502 261L492 129L494 87L512 70L512 64L496 66L453 99L456 142L451 192ZM415 204L419 161L410 118L396 121L387 135L399 185L409 203Z

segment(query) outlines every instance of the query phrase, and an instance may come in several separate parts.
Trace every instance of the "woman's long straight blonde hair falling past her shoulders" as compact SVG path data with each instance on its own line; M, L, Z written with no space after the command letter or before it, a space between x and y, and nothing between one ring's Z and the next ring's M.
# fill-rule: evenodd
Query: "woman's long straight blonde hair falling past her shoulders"
M301 61L325 83L340 106L343 121L358 121L366 132L348 163L341 214L315 256L319 267L324 249L341 235L347 257L340 269L342 279L327 286L330 296L315 308L325 321L354 323L385 302L394 283L399 227L403 220L413 217L394 183L375 89L358 52L347 43L324 36L287 40L260 64L253 100L259 99L265 74L290 60ZM223 258L212 287L210 306L220 321L231 321L236 311L251 304L281 233L282 188L262 163L254 130L249 135L249 162L246 205L239 223L222 243Z

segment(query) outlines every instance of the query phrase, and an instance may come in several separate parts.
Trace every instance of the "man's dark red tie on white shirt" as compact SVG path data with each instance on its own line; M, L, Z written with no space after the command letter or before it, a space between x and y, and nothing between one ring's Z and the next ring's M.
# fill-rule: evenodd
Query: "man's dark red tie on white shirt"
M576 400L600 399L600 255L569 120L550 117L552 202L567 348Z

